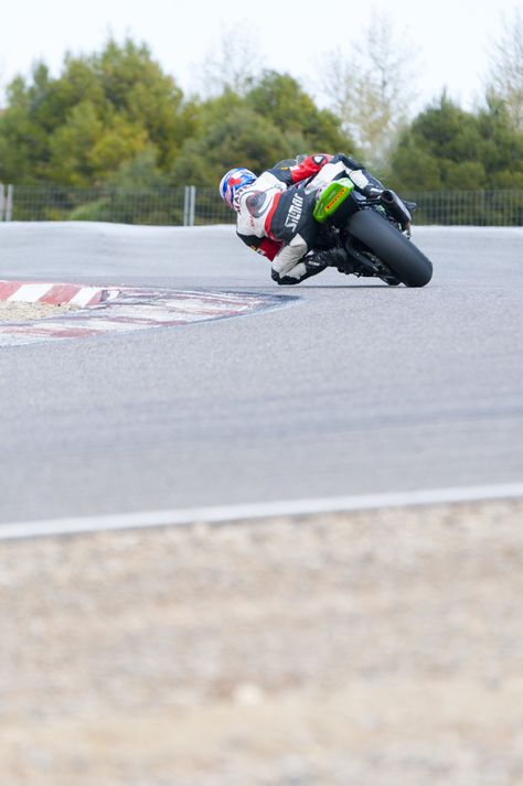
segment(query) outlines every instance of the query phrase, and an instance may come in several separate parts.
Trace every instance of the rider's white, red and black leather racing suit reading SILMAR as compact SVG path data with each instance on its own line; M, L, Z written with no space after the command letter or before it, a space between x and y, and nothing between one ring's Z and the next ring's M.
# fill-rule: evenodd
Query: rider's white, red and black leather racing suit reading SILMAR
M363 193L383 189L346 155L319 153L300 163L281 161L239 192L236 233L247 246L271 261L273 279L278 283L299 283L319 272L319 269L311 272L303 261L314 247L319 230L312 217L317 193L343 176L350 176ZM303 181L309 182L303 186Z

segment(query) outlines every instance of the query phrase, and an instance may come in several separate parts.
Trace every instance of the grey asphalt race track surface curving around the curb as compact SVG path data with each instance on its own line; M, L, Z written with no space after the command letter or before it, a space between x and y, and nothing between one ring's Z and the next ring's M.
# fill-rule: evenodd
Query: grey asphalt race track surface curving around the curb
M0 523L523 480L523 229L415 229L423 290L278 290L231 227L0 225L0 278L299 295L0 351Z

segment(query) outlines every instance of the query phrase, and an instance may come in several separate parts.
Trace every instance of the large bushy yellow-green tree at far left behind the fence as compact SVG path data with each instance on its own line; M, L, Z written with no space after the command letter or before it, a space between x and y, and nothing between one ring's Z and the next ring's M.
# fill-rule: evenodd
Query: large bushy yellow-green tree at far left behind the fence
M154 151L168 170L198 125L172 77L146 45L109 40L99 54L67 55L51 78L39 64L17 77L0 116L0 179L13 183L103 183L126 161Z

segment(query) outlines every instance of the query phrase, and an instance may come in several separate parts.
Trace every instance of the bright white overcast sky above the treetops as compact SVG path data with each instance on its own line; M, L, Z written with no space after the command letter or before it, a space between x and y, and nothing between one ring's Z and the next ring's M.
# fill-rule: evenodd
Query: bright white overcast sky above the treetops
M188 93L196 89L195 66L213 42L242 22L260 42L254 58L307 80L322 52L361 35L372 11L383 10L420 47L420 101L446 87L469 108L481 95L491 43L516 9L523 0L0 0L0 86L28 75L38 58L57 75L65 52L99 51L111 34L147 43Z

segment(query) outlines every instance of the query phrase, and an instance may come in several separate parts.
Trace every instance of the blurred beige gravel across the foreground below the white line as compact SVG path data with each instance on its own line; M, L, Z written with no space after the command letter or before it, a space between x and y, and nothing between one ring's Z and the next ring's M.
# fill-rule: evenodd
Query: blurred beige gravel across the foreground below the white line
M0 542L0 783L523 783L523 500Z

